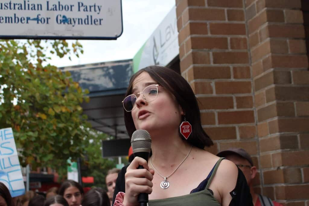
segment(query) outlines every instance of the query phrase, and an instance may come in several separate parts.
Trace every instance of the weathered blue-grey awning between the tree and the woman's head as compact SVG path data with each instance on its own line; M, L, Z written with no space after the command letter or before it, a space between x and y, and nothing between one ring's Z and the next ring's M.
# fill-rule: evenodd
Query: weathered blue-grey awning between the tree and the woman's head
M133 74L132 60L110 61L60 68L70 71L83 89L89 90L89 103L83 112L92 128L118 138L129 138L124 122L122 100Z

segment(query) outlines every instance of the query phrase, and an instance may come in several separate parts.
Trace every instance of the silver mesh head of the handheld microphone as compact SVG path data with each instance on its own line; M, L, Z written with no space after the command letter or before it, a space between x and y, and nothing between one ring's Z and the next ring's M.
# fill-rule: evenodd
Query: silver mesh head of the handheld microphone
M147 130L138 129L133 132L131 138L131 145L133 152L137 149L144 149L150 152L151 149L151 137Z

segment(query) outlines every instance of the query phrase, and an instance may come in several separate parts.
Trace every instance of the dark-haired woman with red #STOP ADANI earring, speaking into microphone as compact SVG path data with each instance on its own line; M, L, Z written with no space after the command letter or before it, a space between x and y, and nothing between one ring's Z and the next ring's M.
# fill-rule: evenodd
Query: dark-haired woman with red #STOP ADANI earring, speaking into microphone
M156 205L252 205L246 179L235 164L204 150L213 145L201 126L200 108L188 82L163 66L135 73L123 100L129 136L147 130L152 155L121 169L114 206L138 205L149 194ZM207 130L206 130L207 131ZM137 169L138 166L145 169Z

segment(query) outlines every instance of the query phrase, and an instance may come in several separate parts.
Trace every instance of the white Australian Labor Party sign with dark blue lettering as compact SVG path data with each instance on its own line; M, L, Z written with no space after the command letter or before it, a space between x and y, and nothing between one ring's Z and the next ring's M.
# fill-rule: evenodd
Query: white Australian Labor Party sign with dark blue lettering
M1 0L0 38L117 39L121 0Z

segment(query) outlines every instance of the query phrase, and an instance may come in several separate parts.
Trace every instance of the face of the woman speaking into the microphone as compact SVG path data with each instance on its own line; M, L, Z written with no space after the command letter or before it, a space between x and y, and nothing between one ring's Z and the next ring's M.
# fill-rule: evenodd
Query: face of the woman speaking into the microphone
M139 74L132 85L132 94L142 92L146 86L157 84L147 72ZM159 86L159 93L155 100L146 102L142 94L138 95L136 108L131 111L136 129L145 129L150 134L160 131L179 130L181 107L175 98L163 87Z

